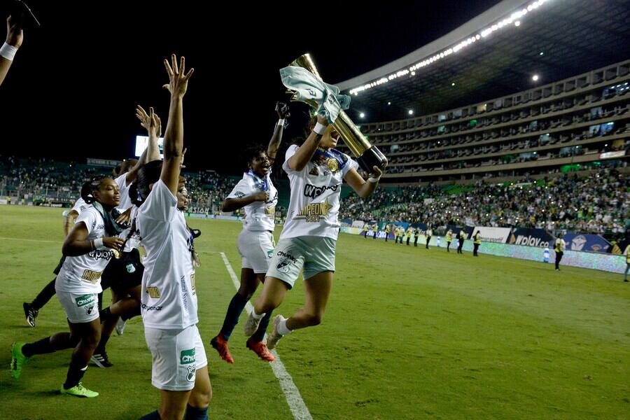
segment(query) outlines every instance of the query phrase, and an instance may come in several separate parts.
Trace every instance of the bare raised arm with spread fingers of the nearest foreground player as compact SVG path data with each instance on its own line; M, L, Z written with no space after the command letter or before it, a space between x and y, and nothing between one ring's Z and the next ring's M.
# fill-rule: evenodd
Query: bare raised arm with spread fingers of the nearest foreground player
M193 76L194 69L190 69L188 73L184 74L186 68L184 57L181 57L179 66L174 54L171 56L171 60L173 66L169 64L167 59L164 60L164 66L169 74L169 84L164 85L164 87L171 93L171 104L164 134L164 165L162 165L160 179L171 193L176 195L183 155L183 97L188 87L188 79Z

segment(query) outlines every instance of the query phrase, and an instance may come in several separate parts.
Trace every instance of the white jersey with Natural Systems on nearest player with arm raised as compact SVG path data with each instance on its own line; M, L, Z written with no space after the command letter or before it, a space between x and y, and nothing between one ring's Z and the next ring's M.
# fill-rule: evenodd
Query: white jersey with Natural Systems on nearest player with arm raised
M161 179L140 207L136 225L146 250L140 304L144 326L174 330L195 325L193 235L177 198Z

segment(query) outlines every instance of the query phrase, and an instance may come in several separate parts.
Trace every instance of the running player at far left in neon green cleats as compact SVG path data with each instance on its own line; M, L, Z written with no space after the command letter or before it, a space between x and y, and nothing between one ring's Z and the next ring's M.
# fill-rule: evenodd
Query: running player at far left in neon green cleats
M61 393L92 398L99 394L85 388L80 380L101 337L98 310L101 274L113 257L111 250L120 251L123 239L115 237L120 228L112 210L120 203L120 194L113 179L85 183L81 197L93 205L78 216L64 241L62 252L66 259L55 282L57 297L68 316L70 332L58 332L29 344L13 343L10 368L11 375L18 379L22 366L35 354L74 347Z

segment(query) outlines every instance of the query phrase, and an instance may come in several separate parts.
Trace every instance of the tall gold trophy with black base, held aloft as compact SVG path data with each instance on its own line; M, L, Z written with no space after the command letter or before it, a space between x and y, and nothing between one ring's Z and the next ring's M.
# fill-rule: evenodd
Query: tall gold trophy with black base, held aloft
M316 78L322 80L313 60L311 59L311 55L308 53L300 55L300 57L297 57L297 59L293 60L293 62L289 65L307 69L313 73ZM295 95L293 100L297 100L295 99ZM304 102L314 108L318 107L317 102L313 99ZM385 155L381 153L376 146L372 146L372 144L365 139L363 133L361 133L356 125L354 125L348 114L344 111L340 111L337 120L335 120L335 123L332 123L332 127L334 127L342 139L344 139L344 143L350 148L350 151L355 156L361 169L368 174L374 172L374 169L372 168L374 166L385 169L387 166L387 158Z

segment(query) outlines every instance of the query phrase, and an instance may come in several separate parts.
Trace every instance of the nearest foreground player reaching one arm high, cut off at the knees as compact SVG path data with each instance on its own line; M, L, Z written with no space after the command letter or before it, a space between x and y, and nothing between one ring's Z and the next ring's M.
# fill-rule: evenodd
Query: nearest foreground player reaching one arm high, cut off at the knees
M141 206L137 228L146 250L141 312L153 356L151 383L160 390L160 409L142 419L207 419L211 384L204 344L197 330L193 235L177 209L183 149L183 97L193 69L164 60L171 94L164 136L164 161L138 172Z

